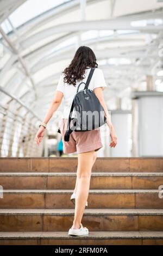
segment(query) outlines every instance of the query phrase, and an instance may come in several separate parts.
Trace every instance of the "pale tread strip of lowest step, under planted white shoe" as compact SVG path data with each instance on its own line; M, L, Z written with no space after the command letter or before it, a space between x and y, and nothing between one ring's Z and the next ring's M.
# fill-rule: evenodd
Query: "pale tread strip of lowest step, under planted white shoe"
M163 239L163 231L89 231L70 236L68 231L0 232L0 239Z

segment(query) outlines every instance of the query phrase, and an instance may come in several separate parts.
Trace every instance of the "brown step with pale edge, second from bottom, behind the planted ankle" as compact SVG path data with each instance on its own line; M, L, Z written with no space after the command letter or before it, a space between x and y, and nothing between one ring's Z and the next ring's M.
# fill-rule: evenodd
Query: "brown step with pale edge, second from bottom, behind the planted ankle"
M1 231L67 231L74 209L0 209ZM91 231L163 231L162 209L85 209Z

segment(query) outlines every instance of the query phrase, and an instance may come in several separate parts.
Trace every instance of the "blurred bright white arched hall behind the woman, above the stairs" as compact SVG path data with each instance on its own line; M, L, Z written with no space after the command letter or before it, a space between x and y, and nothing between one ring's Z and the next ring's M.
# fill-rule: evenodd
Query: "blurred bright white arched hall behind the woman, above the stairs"
M109 148L101 127L98 156L163 156L162 0L0 0L0 23L1 157L65 156L57 132L63 102L39 147L34 138L81 45L104 72L118 137Z

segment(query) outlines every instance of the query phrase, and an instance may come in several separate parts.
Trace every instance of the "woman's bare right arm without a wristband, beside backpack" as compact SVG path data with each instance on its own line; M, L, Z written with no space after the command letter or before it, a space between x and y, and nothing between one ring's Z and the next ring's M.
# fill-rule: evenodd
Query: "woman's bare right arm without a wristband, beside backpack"
M108 108L107 108L105 100L104 100L103 89L102 89L102 87L97 87L93 90L93 92L96 94L99 102L101 103L101 105L104 108L105 116L106 116L106 124L109 126L109 129L110 129L110 137L111 137L110 147L115 148L115 146L117 144L117 136L116 136L116 133L115 133L115 130L114 130L114 126L111 123Z

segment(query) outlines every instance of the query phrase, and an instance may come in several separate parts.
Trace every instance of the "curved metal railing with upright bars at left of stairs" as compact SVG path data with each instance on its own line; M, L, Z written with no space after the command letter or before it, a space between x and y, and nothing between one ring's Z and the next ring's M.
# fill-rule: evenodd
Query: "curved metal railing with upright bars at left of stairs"
M36 126L37 121L41 121L39 116L28 106L26 106L23 101L18 99L15 95L7 92L4 88L0 87L0 92L9 96L9 101L2 105L0 104L2 114L2 125L1 125L1 136L0 136L0 156L42 156L43 144L41 147L37 148L34 141L35 133L38 127ZM10 108L10 103L15 101L18 105L15 108L15 112ZM24 112L20 113L21 108L26 109ZM30 115L30 119L27 116ZM34 121L36 119L36 121ZM12 120L12 121L10 121ZM7 121L7 123L6 123ZM16 122L21 123L21 130L18 131L16 128ZM17 133L18 131L18 133ZM14 136L16 135L17 141L15 144ZM25 137L24 143L22 144L22 139ZM5 143L3 143L3 141ZM45 142L45 138L43 138Z

